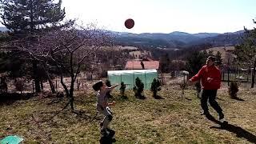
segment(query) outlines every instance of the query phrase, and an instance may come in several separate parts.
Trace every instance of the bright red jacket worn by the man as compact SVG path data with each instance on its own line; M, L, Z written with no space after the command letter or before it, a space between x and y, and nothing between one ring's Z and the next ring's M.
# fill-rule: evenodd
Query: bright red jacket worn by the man
M211 82L207 78L212 78ZM201 70L198 71L194 77L190 80L196 82L202 80L203 90L218 90L221 86L222 74L217 66L202 66Z

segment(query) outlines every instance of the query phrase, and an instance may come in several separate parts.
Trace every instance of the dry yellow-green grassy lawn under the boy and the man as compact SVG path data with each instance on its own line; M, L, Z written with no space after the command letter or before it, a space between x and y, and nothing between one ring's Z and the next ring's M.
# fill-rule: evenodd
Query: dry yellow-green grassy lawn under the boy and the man
M113 94L117 104L112 107L110 127L116 130L116 143L250 143L235 130L210 128L216 124L201 115L194 90L186 90L186 98L170 86L159 93L165 99L154 99L148 91L145 100L134 98L132 91L126 92L127 100L120 98L118 91ZM226 89L218 91L227 121L250 136L256 135L255 94L255 90L240 90L238 96L245 100L240 102L230 99ZM16 134L25 139L24 143L98 143L98 123L103 117L94 118L95 95L76 95L77 113L66 109L52 119L66 105L66 98L39 96L0 104L0 139ZM210 112L217 118L214 110Z

